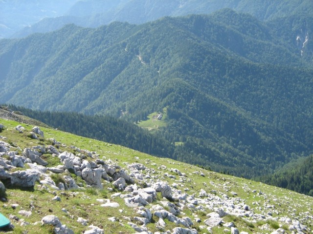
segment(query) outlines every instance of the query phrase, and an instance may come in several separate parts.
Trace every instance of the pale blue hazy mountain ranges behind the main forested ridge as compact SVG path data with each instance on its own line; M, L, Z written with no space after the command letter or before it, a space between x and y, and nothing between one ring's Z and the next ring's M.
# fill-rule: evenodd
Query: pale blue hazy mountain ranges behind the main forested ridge
M26 11L25 17L18 15L18 20L16 20L16 17L11 19L12 16L15 16L14 8L6 7L6 14L3 17L5 22L3 24L16 22L16 25L10 27L9 31L0 31L0 35L2 37L10 35L25 37L36 32L49 32L60 29L67 23L84 27L98 27L113 21L141 24L164 16L210 14L222 8L248 13L259 20L272 20L298 13L302 16L313 15L312 0L71 0L66 2L66 5L65 3L56 4L59 8L63 7L62 9L67 7L67 12L64 14L59 14L60 10L57 9L53 11L52 15L38 15L36 13L36 10L39 10L38 7L33 8L30 5L32 11ZM6 2L6 5L10 6L10 1ZM49 4L46 4L45 8L49 9ZM53 9L53 7L51 8ZM37 20L33 19L33 16L37 15ZM45 19L43 19L44 16ZM19 22L22 23L18 25ZM25 24L25 22L27 22L27 25L23 26L27 27L19 31L22 28L21 24Z

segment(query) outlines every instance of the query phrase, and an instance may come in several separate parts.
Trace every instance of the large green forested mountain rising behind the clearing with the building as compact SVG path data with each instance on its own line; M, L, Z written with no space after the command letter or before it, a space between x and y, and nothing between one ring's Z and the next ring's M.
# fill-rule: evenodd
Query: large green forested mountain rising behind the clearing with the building
M311 35L307 22L301 30ZM312 42L299 48L300 29L275 27L226 9L3 39L0 100L132 122L167 108L159 133L182 142L172 157L270 173L313 145Z

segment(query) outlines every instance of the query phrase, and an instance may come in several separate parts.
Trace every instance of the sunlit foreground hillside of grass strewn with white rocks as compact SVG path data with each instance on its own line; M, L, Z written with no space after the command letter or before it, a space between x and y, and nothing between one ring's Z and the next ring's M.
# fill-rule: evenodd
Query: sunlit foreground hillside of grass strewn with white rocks
M0 119L4 232L312 233L313 197Z

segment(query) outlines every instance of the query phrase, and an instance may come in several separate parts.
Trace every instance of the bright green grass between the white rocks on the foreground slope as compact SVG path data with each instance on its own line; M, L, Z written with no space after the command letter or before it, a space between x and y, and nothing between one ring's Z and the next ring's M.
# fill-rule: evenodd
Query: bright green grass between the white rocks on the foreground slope
M17 126L18 122L11 120L0 119L0 123L5 126L0 135L7 137L7 142L19 146L21 149L25 147L31 147L38 144L48 144L48 141L37 141L27 137L27 133L32 129L32 125L22 124L24 126L24 133L20 134L14 128ZM297 194L295 192L280 189L272 186L262 184L260 182L254 182L246 180L244 178L238 178L234 176L222 175L219 173L209 172L202 170L196 166L188 165L171 159L157 158L149 156L132 149L128 149L118 145L108 144L106 142L101 142L98 140L93 140L85 137L78 137L69 133L57 131L50 128L41 127L45 133L45 138L55 138L57 141L64 143L67 147L60 147L63 151L74 150L68 146L76 146L80 149L87 149L89 151L96 151L100 158L116 160L116 162L121 167L126 167L127 164L132 162L139 162L144 164L146 167L154 168L156 174L162 176L164 170L158 169L160 165L165 165L167 167L166 172L170 173L168 169L177 168L182 173L186 173L187 180L184 183L184 188L188 188L187 192L189 195L196 194L198 195L201 189L204 189L206 192L211 193L212 190L215 190L217 195L222 196L227 194L232 197L231 191L234 191L242 198L242 201L251 208L256 209L257 204L259 207L266 207L269 205L274 205L276 210L279 211L279 214L273 214L273 217L279 218L280 216L289 216L291 219L294 219L295 215L298 216L298 219L302 221L305 225L312 229L312 218L307 221L303 221L305 217L313 215L313 197ZM21 150L20 150L21 152ZM53 160L50 160L52 163ZM49 165L48 165L49 166ZM205 177L195 174L195 171L201 171L205 174ZM174 175L174 174L173 174ZM73 175L72 175L73 176ZM79 182L79 178L76 178ZM174 179L165 177L164 180L168 180L169 184L172 184ZM203 185L203 182L206 185ZM177 182L179 183L179 182ZM48 191L40 184L36 184L33 191L22 191L20 189L7 189L6 190L6 202L1 204L1 213L8 215L16 215L19 218L23 218L26 222L34 223L40 221L45 215L56 215L60 218L62 224L66 224L67 227L71 228L75 233L80 234L83 231L88 230L87 227L79 224L76 220L78 217L83 217L89 220L89 225L93 224L100 228L106 230L105 233L110 233L108 230L114 230L113 233L135 233L135 231L127 225L127 220L123 216L134 217L134 211L132 208L129 208L125 205L122 198L111 198L112 193L106 190L107 187L112 187L111 184L106 184L104 190L96 189L87 189L85 192L77 191L57 191L56 194L59 195L62 199L61 202L54 202L51 199L54 197L52 195L52 190ZM183 188L181 188L183 190ZM252 193L252 190L262 191L265 195L257 195L257 193ZM114 193L114 192L113 192ZM97 198L109 198L111 201L117 201L121 206L118 209L122 209L122 212L119 212L116 208L102 208L99 205L99 202L96 201ZM17 203L20 206L16 209L11 208L11 205ZM25 217L20 215L18 212L20 210L30 210L29 205L33 203L34 210L30 217ZM279 205L280 204L280 205ZM62 208L67 209L68 214L61 211ZM148 207L149 208L149 207ZM49 212L49 209L52 212ZM292 210L292 213L290 212ZM186 215L190 215L190 211L185 209L184 212ZM207 211L208 213L210 211ZM133 215L132 215L133 214ZM203 215L198 214L203 221L205 218ZM123 226L119 222L111 222L107 218L115 216L117 217ZM192 216L190 216L192 217ZM260 225L264 223L255 223L253 225L247 224L242 218L227 216L224 218L224 221L234 221L235 225L240 231L246 231L248 233L262 233L260 230ZM195 228L199 228L198 223L195 223ZM13 221L15 226L14 233L22 233L23 231L31 231L31 233L48 233L49 227L42 227L41 225L26 225L20 226L20 222ZM248 227L250 226L250 227ZM149 230L154 230L154 224L148 224ZM167 229L171 230L175 227L174 223L167 222ZM223 233L224 227L214 228L213 233ZM111 232L112 233L112 232ZM200 231L199 233L205 233L205 230Z

